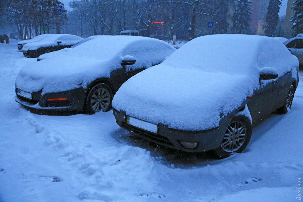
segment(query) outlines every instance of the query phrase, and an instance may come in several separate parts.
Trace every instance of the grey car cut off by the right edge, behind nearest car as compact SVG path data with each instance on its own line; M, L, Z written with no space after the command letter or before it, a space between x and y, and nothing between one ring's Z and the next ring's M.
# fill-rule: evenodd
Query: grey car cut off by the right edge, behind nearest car
M303 37L294 37L283 43L299 59L299 65L303 66Z

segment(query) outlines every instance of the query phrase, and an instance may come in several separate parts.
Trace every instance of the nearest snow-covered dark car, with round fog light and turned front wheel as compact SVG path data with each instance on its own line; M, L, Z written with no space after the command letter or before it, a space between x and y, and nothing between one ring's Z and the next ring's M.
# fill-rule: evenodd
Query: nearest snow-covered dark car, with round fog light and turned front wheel
M298 59L276 39L208 35L128 79L112 101L116 122L187 152L242 152L252 124L291 108Z

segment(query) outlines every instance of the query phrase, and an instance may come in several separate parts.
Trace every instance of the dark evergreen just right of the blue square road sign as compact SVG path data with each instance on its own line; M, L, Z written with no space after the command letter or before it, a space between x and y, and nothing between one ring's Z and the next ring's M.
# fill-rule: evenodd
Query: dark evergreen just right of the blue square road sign
M215 34L225 34L228 28L228 22L226 14L228 12L228 0L217 0L215 6L215 25L214 33Z

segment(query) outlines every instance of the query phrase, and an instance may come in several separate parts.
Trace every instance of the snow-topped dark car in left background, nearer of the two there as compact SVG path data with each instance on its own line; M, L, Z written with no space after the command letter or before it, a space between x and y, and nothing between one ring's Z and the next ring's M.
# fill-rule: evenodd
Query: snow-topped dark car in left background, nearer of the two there
M22 52L25 57L35 58L45 53L70 48L81 40L83 38L71 34L48 34L39 41L25 44Z

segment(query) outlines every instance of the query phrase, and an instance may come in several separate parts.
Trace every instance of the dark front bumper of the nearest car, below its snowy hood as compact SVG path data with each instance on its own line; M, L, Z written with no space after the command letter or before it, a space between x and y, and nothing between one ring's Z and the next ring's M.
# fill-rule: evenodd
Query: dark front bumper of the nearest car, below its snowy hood
M186 152L204 152L218 148L231 121L230 117L223 117L217 128L204 131L176 130L166 125L158 124L158 132L155 134L127 124L125 112L119 112L115 109L113 109L113 112L117 124L125 130L157 144ZM195 149L188 149L182 146L179 141L198 142L198 146Z

